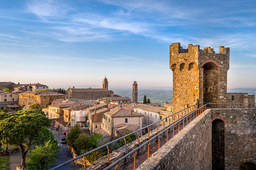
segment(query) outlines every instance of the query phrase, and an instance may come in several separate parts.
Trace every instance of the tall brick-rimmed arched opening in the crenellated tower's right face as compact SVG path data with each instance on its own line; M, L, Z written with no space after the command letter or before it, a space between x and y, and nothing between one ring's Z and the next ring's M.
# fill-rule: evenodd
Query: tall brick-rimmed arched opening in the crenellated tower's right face
M203 102L218 102L219 67L212 63L203 66Z

